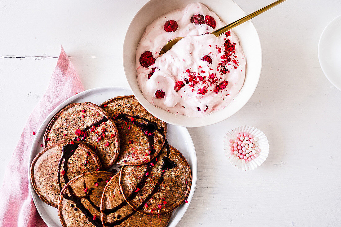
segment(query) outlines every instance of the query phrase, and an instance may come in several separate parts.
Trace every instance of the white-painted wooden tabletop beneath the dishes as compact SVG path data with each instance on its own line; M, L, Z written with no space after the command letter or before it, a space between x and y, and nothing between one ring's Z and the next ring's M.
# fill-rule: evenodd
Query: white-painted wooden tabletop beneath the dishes
M47 87L59 44L86 89L128 86L122 44L145 2L0 1L0 172ZM251 13L272 0L236 2ZM252 20L261 79L234 116L189 129L198 179L178 226L341 225L341 91L317 59L321 32L340 14L339 0L288 0ZM270 143L267 160L251 172L234 168L223 152L224 133L240 125L260 128Z

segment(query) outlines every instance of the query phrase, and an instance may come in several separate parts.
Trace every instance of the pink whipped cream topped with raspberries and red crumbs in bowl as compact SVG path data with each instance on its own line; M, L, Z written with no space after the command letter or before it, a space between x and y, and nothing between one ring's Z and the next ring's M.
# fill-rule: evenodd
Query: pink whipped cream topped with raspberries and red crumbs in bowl
M225 108L245 79L246 59L231 31L201 3L171 11L151 22L136 50L138 85L151 104L176 115L203 117ZM184 37L158 57L164 44ZM228 107L227 107L228 108Z

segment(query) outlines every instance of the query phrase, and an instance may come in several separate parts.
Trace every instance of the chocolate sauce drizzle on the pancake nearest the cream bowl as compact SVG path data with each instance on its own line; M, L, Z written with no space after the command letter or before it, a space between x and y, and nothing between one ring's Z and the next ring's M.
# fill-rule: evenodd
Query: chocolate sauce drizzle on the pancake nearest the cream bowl
M134 120L131 121L130 120L131 118L134 118ZM149 150L150 150L150 154L151 155L154 154L155 151L156 151L155 148L154 148L155 131L159 132L161 134L161 136L163 138L165 138L165 134L163 133L164 128L162 126L159 128L158 124L156 122L149 121L148 119L140 117L138 115L132 116L132 115L128 115L128 114L125 114L125 113L120 113L119 115L116 115L115 117L113 117L113 119L131 122L132 124L134 124L137 127L139 127L140 130L143 132L143 134L145 134L145 136L148 139ZM143 121L145 121L147 123L136 121L136 119L143 120ZM151 135L149 135L149 133L151 133Z

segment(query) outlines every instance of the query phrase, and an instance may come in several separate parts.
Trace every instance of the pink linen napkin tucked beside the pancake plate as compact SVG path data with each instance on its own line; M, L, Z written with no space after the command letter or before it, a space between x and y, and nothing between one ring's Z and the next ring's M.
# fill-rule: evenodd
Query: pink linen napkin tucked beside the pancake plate
M23 133L6 167L0 188L0 226L46 226L28 191L29 151L35 132L60 103L84 91L75 68L63 47L47 90L28 118Z

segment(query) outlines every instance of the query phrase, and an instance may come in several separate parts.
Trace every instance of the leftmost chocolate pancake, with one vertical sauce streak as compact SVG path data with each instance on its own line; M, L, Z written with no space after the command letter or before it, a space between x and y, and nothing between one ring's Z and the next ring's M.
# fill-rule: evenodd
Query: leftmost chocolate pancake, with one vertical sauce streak
M99 158L87 146L73 141L61 142L34 158L31 182L41 200L57 208L60 191L69 179L101 167Z

